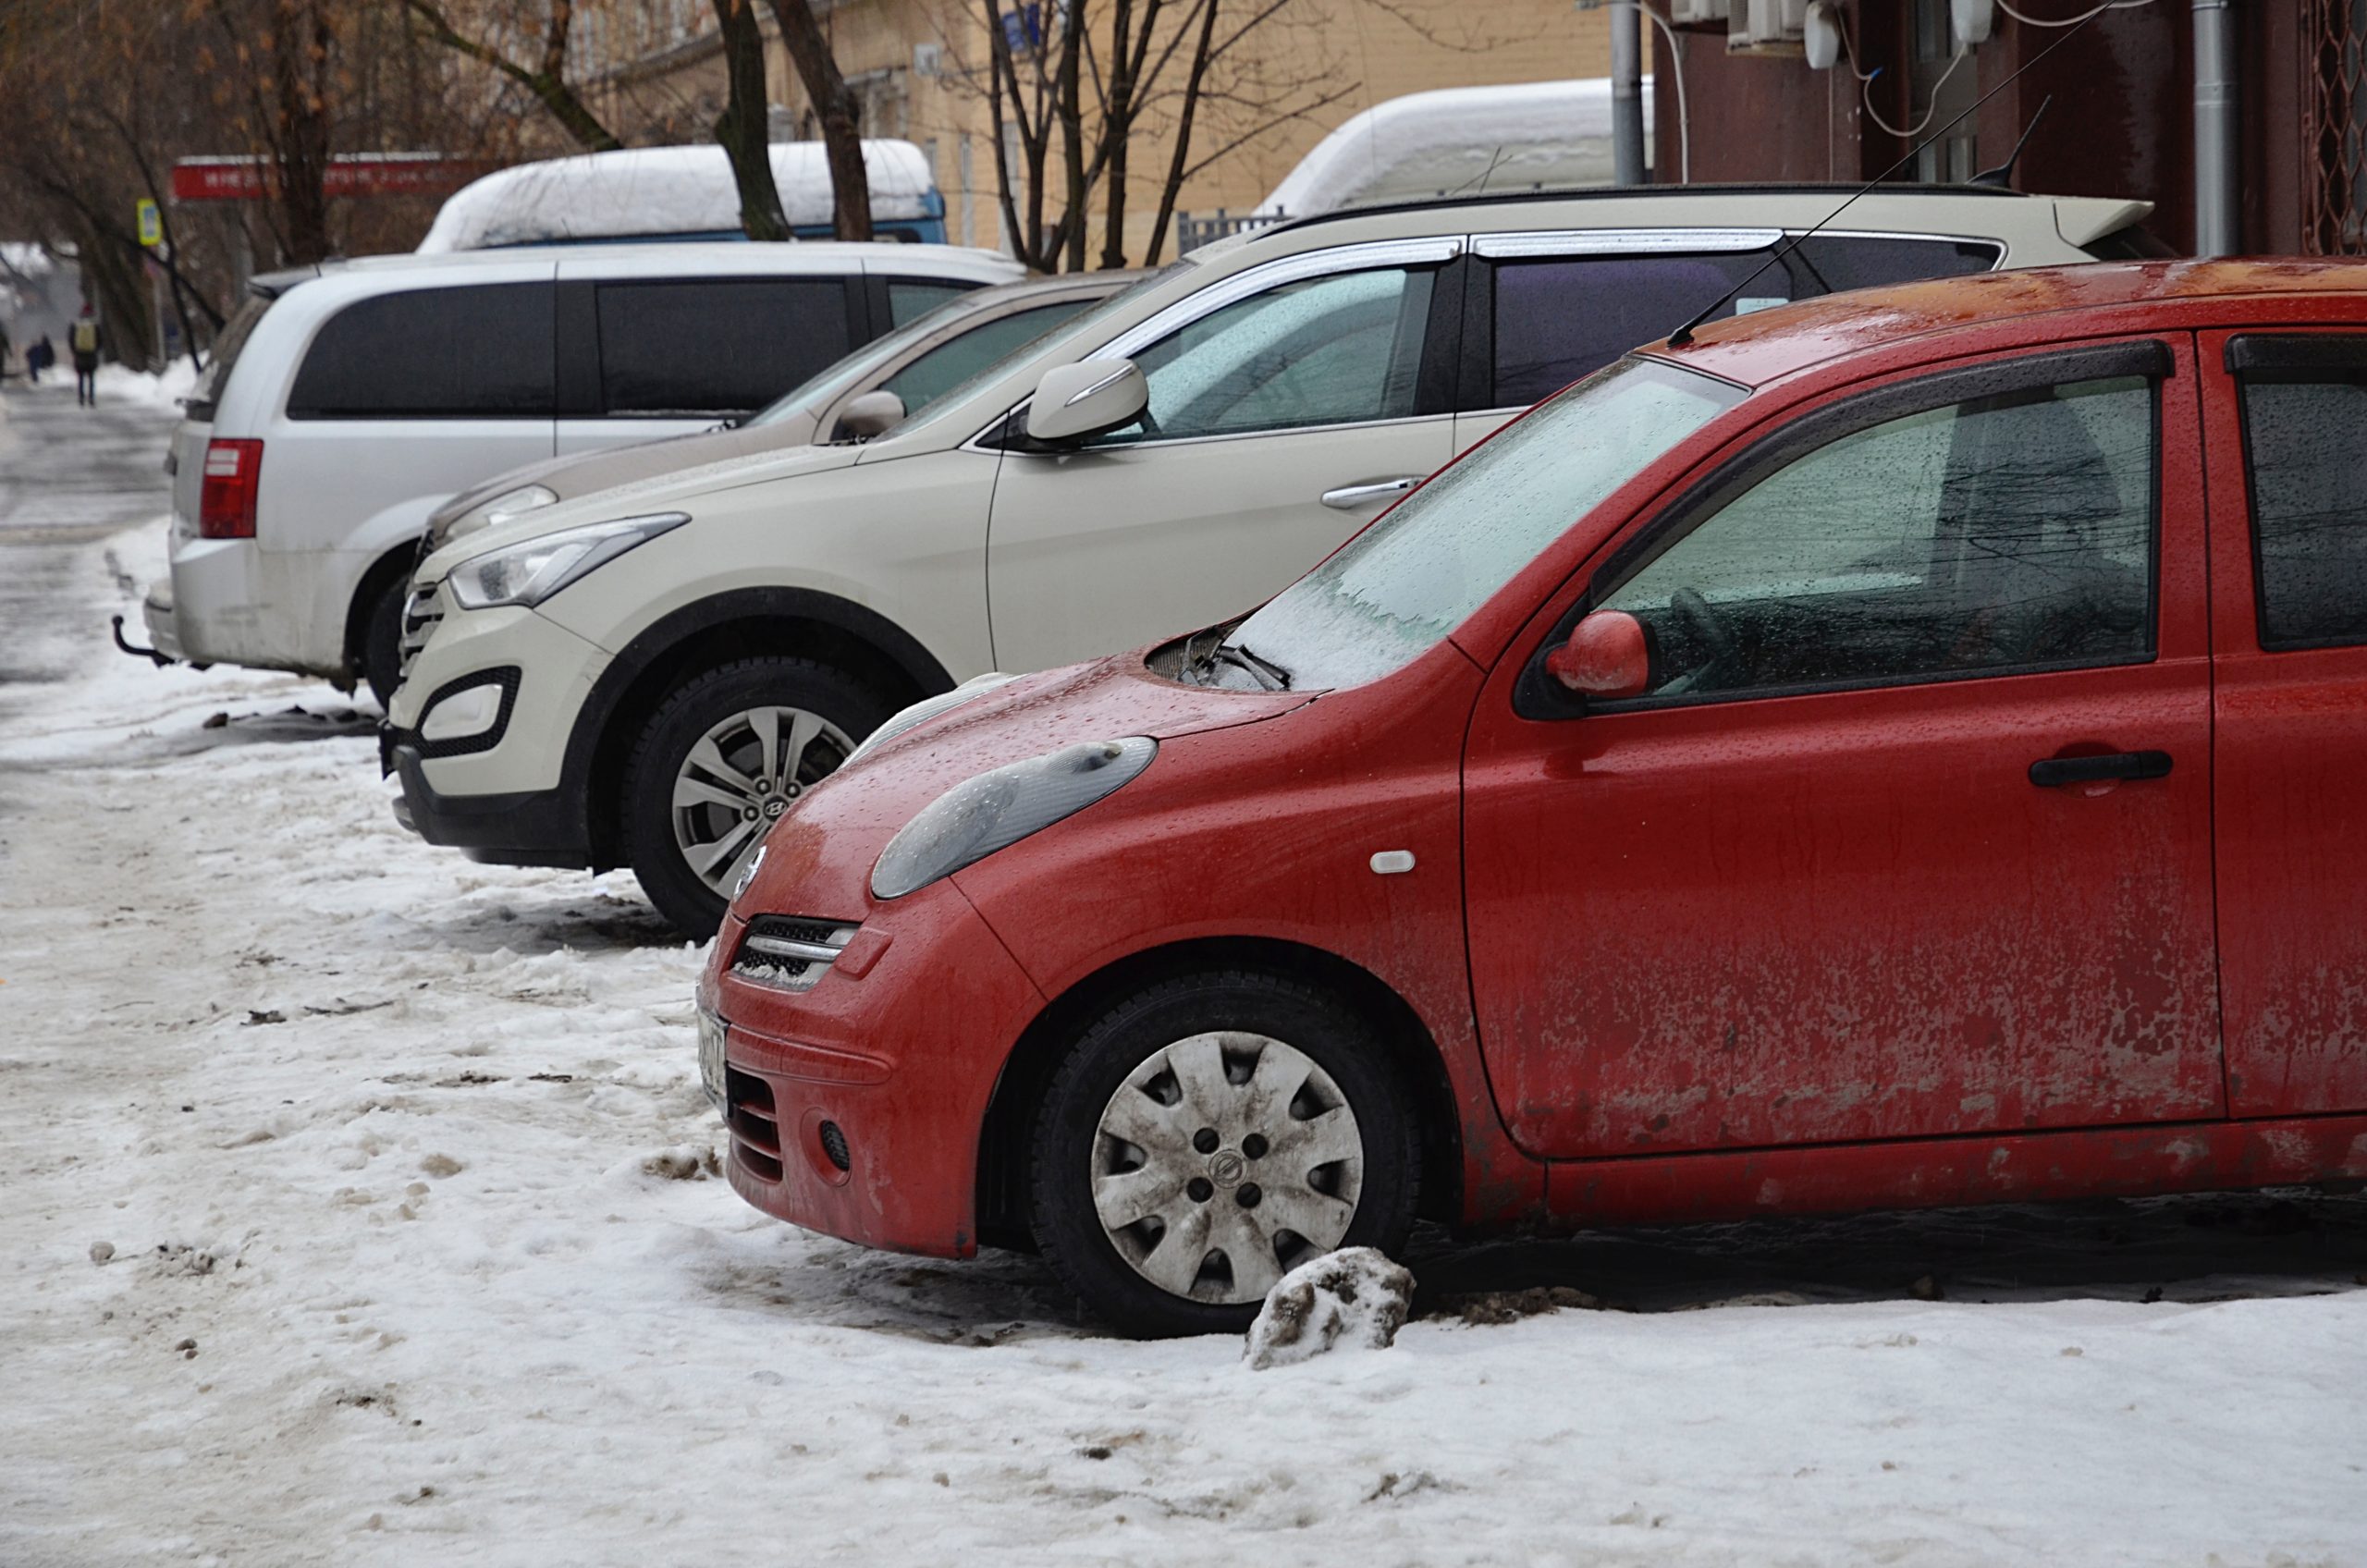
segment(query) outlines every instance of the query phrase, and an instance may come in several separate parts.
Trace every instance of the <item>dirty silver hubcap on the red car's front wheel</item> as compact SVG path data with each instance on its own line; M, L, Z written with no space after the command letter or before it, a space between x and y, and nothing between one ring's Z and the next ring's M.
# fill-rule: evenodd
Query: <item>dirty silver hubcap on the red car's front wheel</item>
M1266 1035L1153 1052L1117 1085L1091 1153L1094 1213L1136 1274L1188 1300L1259 1300L1347 1236L1363 1135L1330 1075Z

